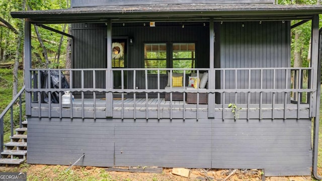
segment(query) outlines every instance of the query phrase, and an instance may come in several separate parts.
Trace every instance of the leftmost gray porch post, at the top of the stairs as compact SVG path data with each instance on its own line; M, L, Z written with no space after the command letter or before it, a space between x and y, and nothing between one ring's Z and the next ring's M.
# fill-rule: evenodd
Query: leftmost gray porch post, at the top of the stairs
M29 19L25 19L25 39L24 39L24 74L26 86L26 115L31 115L31 92L28 92L32 87L31 69L31 24ZM36 79L36 77L34 77ZM40 80L38 80L40 81ZM41 100L38 100L41 101Z

